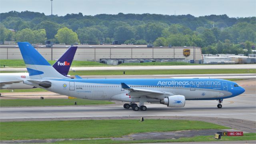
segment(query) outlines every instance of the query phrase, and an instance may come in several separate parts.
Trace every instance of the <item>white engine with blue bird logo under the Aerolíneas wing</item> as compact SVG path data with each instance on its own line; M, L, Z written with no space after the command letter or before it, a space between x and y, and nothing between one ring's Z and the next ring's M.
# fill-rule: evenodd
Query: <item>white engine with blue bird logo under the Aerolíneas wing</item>
M184 107L185 97L184 95L172 95L161 99L160 103L167 105L168 107Z

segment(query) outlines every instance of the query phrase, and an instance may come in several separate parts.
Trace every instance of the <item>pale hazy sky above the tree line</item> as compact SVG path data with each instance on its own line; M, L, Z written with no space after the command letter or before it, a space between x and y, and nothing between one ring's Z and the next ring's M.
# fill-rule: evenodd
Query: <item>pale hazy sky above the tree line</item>
M50 0L0 0L0 13L32 11L51 14ZM256 16L256 0L53 0L52 14L164 14L228 17Z

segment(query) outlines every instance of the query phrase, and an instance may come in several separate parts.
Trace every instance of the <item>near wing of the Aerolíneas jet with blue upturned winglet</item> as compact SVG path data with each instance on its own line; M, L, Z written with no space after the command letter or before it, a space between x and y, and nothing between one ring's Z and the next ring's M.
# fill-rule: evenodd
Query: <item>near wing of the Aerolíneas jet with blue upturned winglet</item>
M127 93L127 95L129 95L131 98L141 97L141 96L147 96L150 98L162 98L162 97L174 95L174 93L165 92L165 91L134 89L134 88L130 88L124 83L121 83L121 85L124 90L130 91L129 93Z

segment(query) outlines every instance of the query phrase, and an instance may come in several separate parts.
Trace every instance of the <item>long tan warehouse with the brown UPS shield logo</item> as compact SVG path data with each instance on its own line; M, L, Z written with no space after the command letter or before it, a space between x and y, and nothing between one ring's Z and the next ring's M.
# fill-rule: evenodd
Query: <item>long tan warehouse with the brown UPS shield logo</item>
M46 60L56 60L70 47L70 45L33 45ZM149 45L74 45L78 46L74 60L97 61L131 60L143 61L171 61L202 63L200 47L150 47ZM18 45L0 45L1 59L22 59Z

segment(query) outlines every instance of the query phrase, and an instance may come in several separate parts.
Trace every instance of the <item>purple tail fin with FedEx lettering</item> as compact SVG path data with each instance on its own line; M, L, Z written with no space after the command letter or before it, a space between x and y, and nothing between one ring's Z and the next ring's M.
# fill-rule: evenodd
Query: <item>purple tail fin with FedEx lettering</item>
M70 47L52 66L60 74L67 76L74 56L76 54L77 47Z

